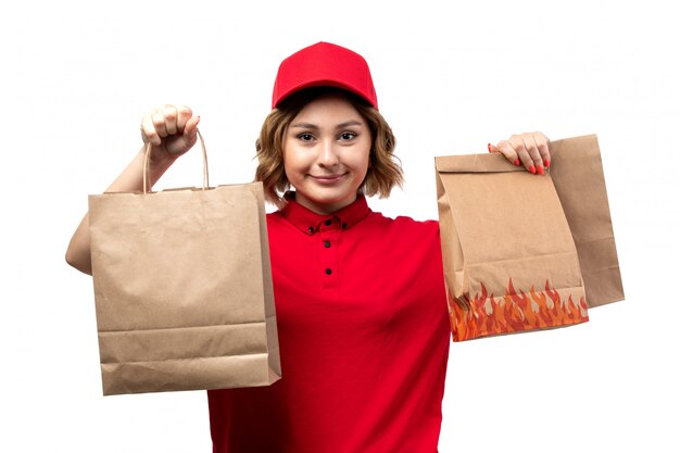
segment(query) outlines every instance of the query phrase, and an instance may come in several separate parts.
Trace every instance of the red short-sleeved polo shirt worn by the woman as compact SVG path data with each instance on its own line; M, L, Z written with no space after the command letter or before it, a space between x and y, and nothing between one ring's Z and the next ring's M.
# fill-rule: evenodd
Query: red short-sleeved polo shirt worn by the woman
M282 378L209 391L214 452L435 453L451 327L439 225L267 215Z

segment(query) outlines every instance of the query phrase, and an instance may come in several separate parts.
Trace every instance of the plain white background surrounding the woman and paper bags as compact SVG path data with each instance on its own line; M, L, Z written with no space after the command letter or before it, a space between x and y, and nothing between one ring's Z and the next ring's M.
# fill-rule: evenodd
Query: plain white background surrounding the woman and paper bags
M676 15L551 3L3 5L0 451L210 451L204 392L101 395L91 279L63 255L156 105L201 115L213 184L251 180L278 64L319 40L372 65L407 181L370 201L388 215L437 216L435 155L534 129L600 138L627 300L582 326L452 344L440 451L680 451ZM194 184L192 152L156 187Z

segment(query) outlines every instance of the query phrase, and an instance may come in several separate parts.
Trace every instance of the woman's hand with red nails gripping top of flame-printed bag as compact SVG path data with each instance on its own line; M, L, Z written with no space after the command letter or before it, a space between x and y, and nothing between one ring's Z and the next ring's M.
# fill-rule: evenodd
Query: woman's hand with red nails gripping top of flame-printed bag
M525 133L501 140L496 146L489 143L489 152L499 152L515 165L524 165L529 173L542 175L550 167L549 142L542 133Z

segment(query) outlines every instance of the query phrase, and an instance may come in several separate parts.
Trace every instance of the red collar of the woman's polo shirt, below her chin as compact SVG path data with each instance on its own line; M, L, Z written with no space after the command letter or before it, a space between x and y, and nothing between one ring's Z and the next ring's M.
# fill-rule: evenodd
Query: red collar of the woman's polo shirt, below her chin
M295 201L294 191L287 192L286 200L288 203L286 203L286 206L280 211L281 216L302 232L310 236L318 231L322 225L329 226L335 224L342 229L352 228L370 212L366 197L364 197L363 193L358 193L352 204L332 214L317 214L314 211L310 211Z

